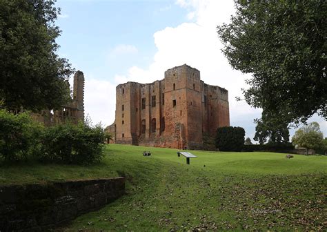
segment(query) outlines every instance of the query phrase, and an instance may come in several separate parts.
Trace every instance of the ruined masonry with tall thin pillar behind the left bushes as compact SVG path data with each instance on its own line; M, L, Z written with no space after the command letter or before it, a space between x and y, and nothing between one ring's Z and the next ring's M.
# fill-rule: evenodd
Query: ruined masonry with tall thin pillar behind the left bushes
M65 122L67 119L72 122L84 121L84 75L77 71L74 75L74 86L72 99L58 110L41 110L40 113L32 113L32 117L46 126Z

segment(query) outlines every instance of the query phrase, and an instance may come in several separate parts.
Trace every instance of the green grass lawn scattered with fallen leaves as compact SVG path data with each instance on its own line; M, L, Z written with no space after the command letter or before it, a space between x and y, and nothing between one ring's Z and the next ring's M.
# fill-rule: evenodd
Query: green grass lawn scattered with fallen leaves
M142 151L152 152L143 157ZM123 175L127 194L64 231L324 231L327 157L110 145L92 166L0 166L2 184Z

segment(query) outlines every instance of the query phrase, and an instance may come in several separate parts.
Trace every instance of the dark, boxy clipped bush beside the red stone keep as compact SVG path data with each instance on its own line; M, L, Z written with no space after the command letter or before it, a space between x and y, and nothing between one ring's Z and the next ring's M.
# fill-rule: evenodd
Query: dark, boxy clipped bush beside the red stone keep
M216 147L219 151L241 151L244 146L244 128L224 126L217 129Z

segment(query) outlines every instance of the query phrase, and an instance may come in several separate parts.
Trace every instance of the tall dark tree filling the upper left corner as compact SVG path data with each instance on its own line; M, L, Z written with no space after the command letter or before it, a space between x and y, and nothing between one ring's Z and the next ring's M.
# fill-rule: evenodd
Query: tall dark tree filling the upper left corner
M53 1L0 1L0 100L3 108L59 108L70 99L73 70L56 54Z

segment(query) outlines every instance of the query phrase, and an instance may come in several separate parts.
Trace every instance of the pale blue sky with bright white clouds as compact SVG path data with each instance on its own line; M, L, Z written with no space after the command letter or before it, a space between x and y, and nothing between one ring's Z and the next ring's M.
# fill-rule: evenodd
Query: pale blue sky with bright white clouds
M261 109L235 99L251 76L232 69L217 35L217 26L235 14L233 0L57 0L56 6L58 53L84 73L84 108L92 123L115 121L118 84L150 83L188 64L206 84L228 90L230 126L243 127L253 142ZM326 120L314 115L308 122L318 122L327 137Z

